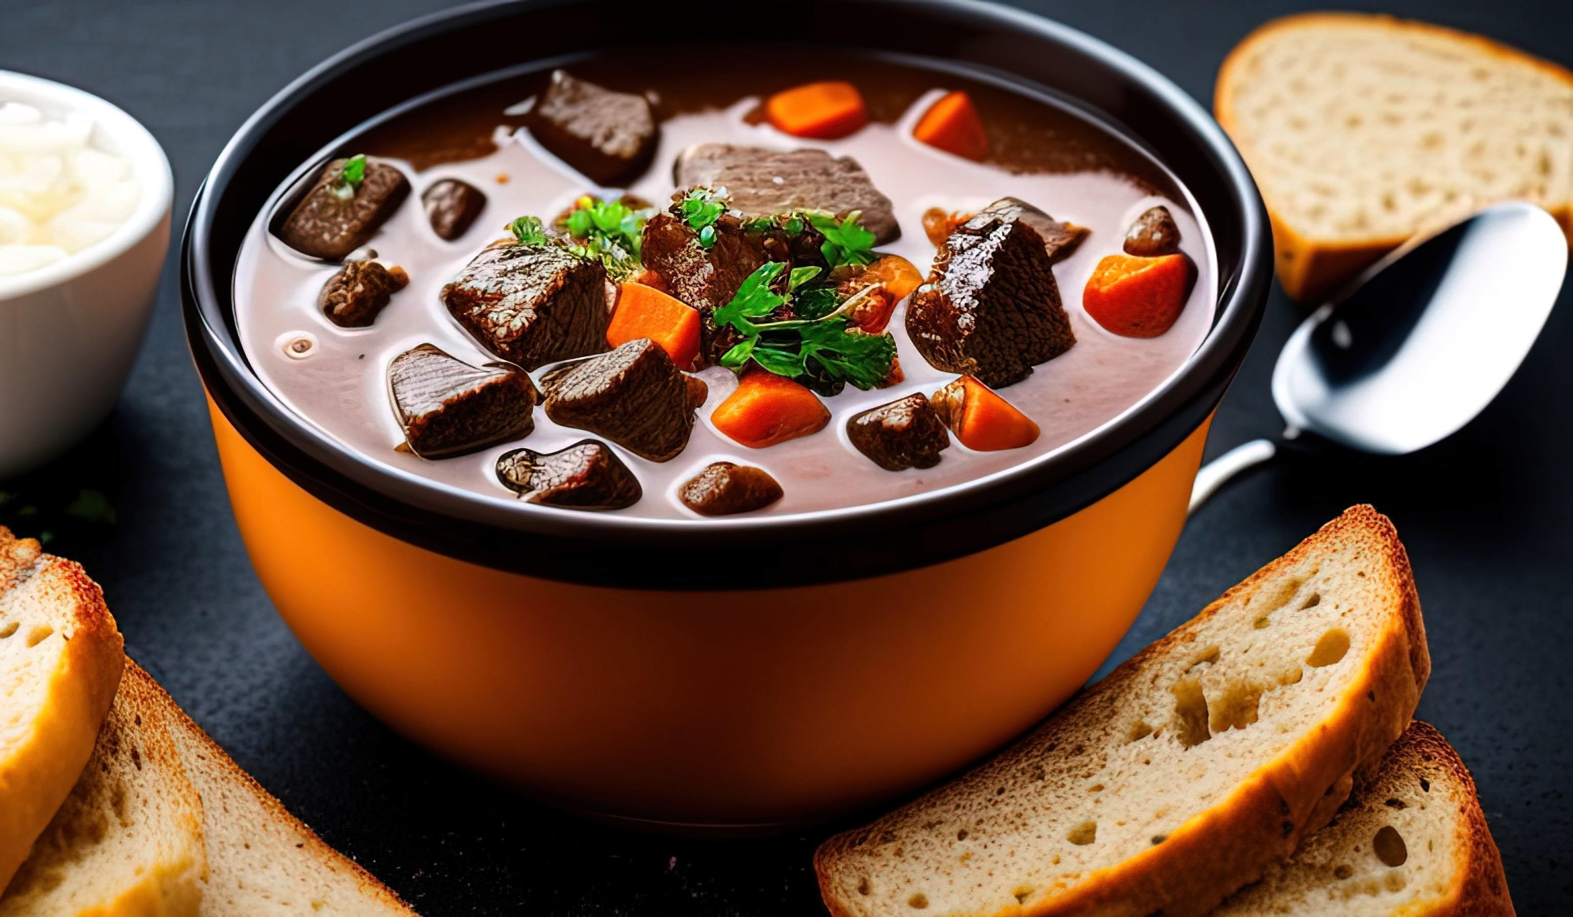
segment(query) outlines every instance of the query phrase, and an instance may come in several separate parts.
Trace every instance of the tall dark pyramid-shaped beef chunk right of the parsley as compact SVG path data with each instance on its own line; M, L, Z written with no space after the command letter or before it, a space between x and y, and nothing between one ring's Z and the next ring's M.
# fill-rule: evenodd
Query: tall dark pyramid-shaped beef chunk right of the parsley
M912 346L936 370L1004 389L1076 343L1043 236L1013 198L945 239L906 310Z

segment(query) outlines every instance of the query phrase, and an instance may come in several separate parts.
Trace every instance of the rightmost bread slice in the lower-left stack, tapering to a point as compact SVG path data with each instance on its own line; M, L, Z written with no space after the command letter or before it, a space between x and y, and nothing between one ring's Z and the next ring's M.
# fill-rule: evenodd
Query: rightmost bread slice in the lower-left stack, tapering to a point
M162 689L170 735L203 802L203 917L333 914L412 917L398 895L322 843L241 771Z

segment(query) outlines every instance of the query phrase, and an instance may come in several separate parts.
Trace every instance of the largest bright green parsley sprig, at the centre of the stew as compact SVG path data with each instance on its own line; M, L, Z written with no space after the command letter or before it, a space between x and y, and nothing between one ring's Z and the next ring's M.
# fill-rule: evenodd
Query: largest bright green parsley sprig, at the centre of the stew
M744 335L741 343L722 354L720 363L741 370L752 360L763 370L823 393L834 393L845 382L859 389L884 382L895 360L895 338L853 329L842 311L846 304L796 319L753 321L769 318L786 304L802 313L809 311L804 305L813 304L813 311L820 311L827 305L826 294L831 304L835 302L832 288L812 285L820 275L818 267L798 267L786 277L785 289L777 291L785 267L780 261L761 264L742 282L736 296L714 311L716 324L731 326Z

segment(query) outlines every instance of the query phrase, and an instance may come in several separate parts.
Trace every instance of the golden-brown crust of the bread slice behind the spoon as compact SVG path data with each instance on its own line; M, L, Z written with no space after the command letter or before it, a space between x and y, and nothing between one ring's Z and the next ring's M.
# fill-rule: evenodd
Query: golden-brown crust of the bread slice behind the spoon
M1233 138L1238 137L1240 120L1233 107L1233 87L1241 79L1244 61L1255 50L1255 46L1266 36L1279 31L1291 31L1304 25L1361 25L1383 27L1392 30L1424 31L1472 46L1475 50L1499 60L1510 60L1532 66L1570 87L1573 72L1551 61L1529 55L1482 35L1433 25L1414 19L1398 19L1387 14L1367 13L1298 13L1266 22L1252 30L1240 44L1229 52L1218 69L1218 80L1213 88L1213 115L1224 131ZM1236 145L1240 142L1236 140ZM1244 153L1244 151L1241 151ZM1295 228L1284 214L1273 206L1273 198L1263 193L1268 220L1273 225L1274 264L1284 293L1298 302L1320 304L1340 289L1362 271L1381 260L1411 236L1373 236L1369 239L1317 239ZM1546 208L1562 226L1562 233L1573 249L1573 201Z

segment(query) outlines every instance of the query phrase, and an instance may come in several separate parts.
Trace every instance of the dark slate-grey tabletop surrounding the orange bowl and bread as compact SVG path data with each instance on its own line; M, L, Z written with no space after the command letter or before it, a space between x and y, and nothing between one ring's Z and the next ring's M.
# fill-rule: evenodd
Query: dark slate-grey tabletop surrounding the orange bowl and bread
M1134 53L1202 101L1235 41L1276 13L1306 8L1018 5ZM0 68L80 85L146 123L175 165L179 220L256 105L340 47L437 6L0 0ZM1573 63L1565 0L1394 0L1381 8ZM818 834L714 843L585 826L455 771L352 705L289 635L252 574L187 360L173 264L164 280L146 349L113 417L66 461L0 481L0 491L16 494L0 506L0 522L24 533L47 528L57 551L87 565L131 654L245 769L426 914L818 912L809 870ZM1474 771L1524 914L1562 912L1573 898L1570 299L1564 293L1507 390L1450 440L1402 459L1295 459L1216 497L1191 521L1115 654L1169 631L1346 505L1375 503L1398 524L1420 585L1435 664L1420 716ZM1210 453L1277 431L1268 376L1298 315L1274 293ZM118 524L64 513L80 488L110 494ZM17 517L24 505L39 513Z

